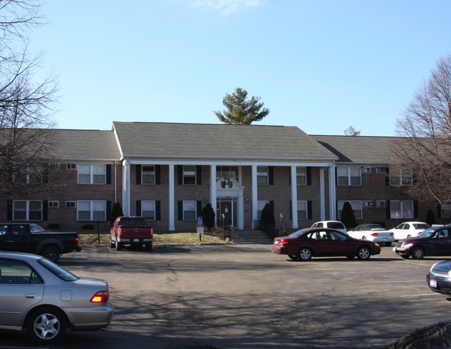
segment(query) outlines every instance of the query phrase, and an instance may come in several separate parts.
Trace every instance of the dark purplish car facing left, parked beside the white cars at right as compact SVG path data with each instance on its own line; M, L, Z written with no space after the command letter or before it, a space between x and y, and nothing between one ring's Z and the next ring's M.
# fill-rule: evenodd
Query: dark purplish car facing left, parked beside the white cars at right
M400 240L393 251L402 258L451 256L451 226L432 226L415 238Z

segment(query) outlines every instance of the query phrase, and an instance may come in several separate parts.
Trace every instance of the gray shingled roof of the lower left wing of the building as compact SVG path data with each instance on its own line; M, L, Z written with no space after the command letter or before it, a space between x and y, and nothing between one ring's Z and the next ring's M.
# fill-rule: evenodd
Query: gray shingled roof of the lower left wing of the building
M111 159L121 154L114 132L87 129L53 129L56 147L54 156L60 159Z

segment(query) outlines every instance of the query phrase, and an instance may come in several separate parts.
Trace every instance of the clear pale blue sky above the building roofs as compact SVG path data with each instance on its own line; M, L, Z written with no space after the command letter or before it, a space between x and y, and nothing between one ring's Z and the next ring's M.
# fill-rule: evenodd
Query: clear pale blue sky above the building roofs
M271 110L257 124L395 136L451 54L450 13L448 0L46 0L30 47L58 75L58 128L220 123L241 87Z

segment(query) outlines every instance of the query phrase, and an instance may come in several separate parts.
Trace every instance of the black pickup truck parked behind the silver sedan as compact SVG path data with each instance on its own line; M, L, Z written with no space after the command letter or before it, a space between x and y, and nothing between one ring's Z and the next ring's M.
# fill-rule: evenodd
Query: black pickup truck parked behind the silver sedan
M81 251L81 247L77 233L35 233L30 224L0 223L0 250L35 253L56 262L62 253Z

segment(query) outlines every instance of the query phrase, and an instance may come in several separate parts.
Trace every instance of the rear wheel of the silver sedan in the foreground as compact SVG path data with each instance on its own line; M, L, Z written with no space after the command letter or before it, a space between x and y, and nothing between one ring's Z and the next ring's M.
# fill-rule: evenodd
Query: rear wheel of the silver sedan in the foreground
M67 319L61 310L42 307L28 315L26 330L35 343L57 343L66 334Z

